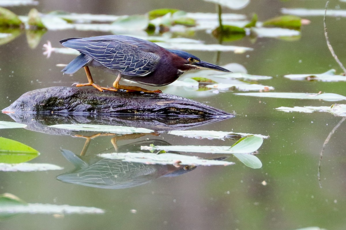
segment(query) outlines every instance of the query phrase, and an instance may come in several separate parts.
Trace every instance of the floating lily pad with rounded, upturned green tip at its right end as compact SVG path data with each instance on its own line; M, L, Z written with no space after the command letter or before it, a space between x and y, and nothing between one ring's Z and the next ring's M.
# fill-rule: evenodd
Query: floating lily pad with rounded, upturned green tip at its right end
M143 150L165 150L166 152L200 152L200 153L252 153L261 147L261 137L249 136L240 139L233 146L141 146Z

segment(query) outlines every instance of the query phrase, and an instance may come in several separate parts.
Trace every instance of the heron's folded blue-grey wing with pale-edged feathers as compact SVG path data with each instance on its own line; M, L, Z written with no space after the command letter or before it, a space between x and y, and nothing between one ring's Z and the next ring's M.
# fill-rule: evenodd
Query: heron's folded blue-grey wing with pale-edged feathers
M86 40L84 38L63 42L65 47L76 49L109 69L119 70L128 76L146 76L156 69L160 60L160 57L154 53L158 46L151 48L147 41L144 45L139 44L137 40L126 42L123 39Z

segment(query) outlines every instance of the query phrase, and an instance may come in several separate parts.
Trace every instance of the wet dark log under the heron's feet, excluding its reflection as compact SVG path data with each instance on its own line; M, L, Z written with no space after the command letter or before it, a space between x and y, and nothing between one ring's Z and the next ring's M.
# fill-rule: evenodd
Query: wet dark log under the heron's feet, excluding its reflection
M164 93L100 92L91 88L50 87L29 91L2 112L132 114L144 116L233 117L203 103Z

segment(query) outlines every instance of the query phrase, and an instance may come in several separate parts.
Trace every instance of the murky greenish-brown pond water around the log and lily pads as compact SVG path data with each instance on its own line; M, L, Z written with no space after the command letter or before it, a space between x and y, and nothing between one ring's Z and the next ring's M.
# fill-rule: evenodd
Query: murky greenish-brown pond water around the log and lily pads
M325 1L252 1L243 10L255 12L259 20L281 15L281 8L323 9ZM346 3L331 1L329 8ZM31 7L9 8L26 15ZM215 12L215 5L201 0L191 1L40 1L40 12L65 10L93 14L137 14L156 8L178 8L188 12ZM323 32L322 17L304 17L311 20L301 29L301 38L295 41L258 38L254 43L244 38L224 44L246 46L254 51L244 54L224 52L220 64L242 64L250 74L273 76L260 83L275 87L276 92L319 91L346 95L344 82L299 82L283 78L292 73L322 73L337 69L330 55ZM327 18L330 42L339 59L346 63L345 18ZM28 48L25 34L0 47L0 108L9 106L21 94L38 88L70 86L84 82L80 70L73 77L63 76L57 63L68 63L72 56L42 54L46 40L60 47L59 40L68 37L90 37L104 33L85 31L48 31L39 46ZM217 43L210 34L195 33L194 39ZM192 52L204 61L215 62L216 52ZM246 57L249 55L248 57ZM92 70L93 71L93 70ZM110 84L114 77L102 74ZM96 79L96 78L95 78ZM179 94L179 92L176 92ZM228 167L199 167L179 177L160 178L143 186L122 190L83 187L57 181L61 171L0 172L0 193L13 193L28 203L55 203L74 206L93 206L106 210L102 215L65 215L56 218L44 214L25 214L0 222L1 229L239 229L239 230L293 230L318 226L328 230L346 228L346 157L343 123L330 139L321 166L322 188L318 183L319 153L326 137L341 118L325 113L284 113L280 106L330 106L333 102L269 99L236 96L233 92L210 93L210 97L191 97L228 112L232 119L196 129L261 133L269 135L257 155L261 169L251 169L237 162ZM5 115L0 120L11 121ZM1 136L25 143L37 149L41 156L36 163L52 163L68 171L73 166L61 155L60 148L75 153L81 151L84 139L53 136L25 129L1 130ZM152 139L145 136L140 139ZM198 140L161 134L174 145L231 145L230 140ZM121 141L120 144L130 143ZM111 147L110 137L91 142L88 153ZM236 161L236 159L232 159ZM262 181L267 185L263 186ZM132 213L131 210L136 210Z

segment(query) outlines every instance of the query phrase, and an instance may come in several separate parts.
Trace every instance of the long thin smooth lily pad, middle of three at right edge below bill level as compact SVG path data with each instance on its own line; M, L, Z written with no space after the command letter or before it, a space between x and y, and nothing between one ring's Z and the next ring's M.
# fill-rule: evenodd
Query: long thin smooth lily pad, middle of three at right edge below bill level
M315 99L325 101L342 101L346 100L345 96L336 93L235 93L241 96L267 97L267 98L291 98L291 99Z

